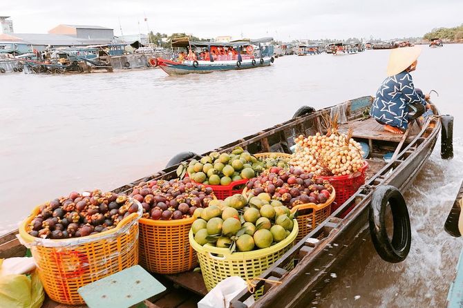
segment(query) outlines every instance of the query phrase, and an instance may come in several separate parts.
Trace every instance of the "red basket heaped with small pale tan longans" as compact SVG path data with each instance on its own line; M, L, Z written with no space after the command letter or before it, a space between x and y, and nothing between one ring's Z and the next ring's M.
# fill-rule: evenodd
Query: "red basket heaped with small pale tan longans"
M336 205L332 206L332 211L365 184L368 163L362 158L361 146L352 139L352 130L347 135L338 132L337 119L326 135L300 135L294 141L297 146L290 164L332 184L336 190Z

